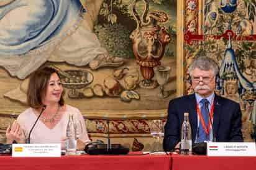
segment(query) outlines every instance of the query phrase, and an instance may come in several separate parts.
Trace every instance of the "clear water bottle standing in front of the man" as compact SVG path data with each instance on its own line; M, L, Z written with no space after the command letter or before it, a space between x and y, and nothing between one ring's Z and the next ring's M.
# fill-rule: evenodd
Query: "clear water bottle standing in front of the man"
M184 120L181 127L180 154L192 154L192 137L188 113L184 113Z

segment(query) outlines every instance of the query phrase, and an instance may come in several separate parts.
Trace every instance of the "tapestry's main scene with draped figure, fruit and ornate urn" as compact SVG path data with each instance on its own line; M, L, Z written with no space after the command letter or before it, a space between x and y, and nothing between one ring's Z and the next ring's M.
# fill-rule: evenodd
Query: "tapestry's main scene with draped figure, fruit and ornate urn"
M48 65L67 103L85 112L167 109L176 89L173 9L171 0L3 1L0 66L21 83L1 95L25 104L29 74Z

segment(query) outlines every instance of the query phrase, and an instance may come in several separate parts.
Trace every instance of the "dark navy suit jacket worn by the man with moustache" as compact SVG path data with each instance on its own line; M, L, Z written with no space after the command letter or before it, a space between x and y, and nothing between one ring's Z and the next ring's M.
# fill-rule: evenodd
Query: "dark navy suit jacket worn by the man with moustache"
M198 129L198 113L194 94L173 99L169 103L163 149L171 151L180 141L184 113L190 114L192 141ZM241 110L239 104L224 97L214 97L213 129L216 141L243 141L241 132Z

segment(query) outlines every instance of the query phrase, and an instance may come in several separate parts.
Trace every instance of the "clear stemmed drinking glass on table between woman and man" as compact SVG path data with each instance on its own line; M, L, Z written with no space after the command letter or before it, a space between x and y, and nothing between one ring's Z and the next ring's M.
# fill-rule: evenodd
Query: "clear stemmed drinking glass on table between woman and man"
M150 128L150 133L155 139L154 151L162 151L162 147L160 147L160 138L163 137L163 120L152 120L152 127Z

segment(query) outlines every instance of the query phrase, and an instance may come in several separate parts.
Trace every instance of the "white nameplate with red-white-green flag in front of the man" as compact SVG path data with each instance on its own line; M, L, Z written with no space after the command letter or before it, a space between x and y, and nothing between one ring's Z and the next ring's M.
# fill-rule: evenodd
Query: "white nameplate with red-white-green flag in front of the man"
M256 156L254 142L208 142L208 156Z

